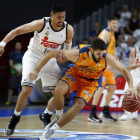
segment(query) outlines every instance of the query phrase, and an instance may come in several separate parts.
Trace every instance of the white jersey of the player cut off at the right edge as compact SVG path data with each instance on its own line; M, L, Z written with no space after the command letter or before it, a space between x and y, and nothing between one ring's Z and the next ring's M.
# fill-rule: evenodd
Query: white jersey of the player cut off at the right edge
M140 50L139 47L136 47L136 58L135 58L135 65L140 64ZM140 67L130 71L132 76L140 76Z

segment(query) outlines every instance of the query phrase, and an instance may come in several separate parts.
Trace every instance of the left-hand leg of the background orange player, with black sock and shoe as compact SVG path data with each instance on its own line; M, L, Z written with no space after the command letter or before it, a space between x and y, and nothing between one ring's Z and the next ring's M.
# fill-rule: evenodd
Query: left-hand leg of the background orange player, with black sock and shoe
M100 78L98 80L98 84L99 84L99 88L94 94L93 101L92 101L92 109L91 109L90 115L88 117L88 120L92 121L92 122L101 123L102 120L100 120L96 114L96 107L97 107L97 104L99 102L99 99L102 95L102 92L103 92L104 86L105 86L105 80L103 80L103 75L100 76Z

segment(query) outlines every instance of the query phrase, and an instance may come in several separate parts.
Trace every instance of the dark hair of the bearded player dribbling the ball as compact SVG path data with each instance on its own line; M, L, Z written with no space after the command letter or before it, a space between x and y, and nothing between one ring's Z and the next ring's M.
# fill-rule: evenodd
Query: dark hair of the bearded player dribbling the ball
M98 38L98 37L95 37L92 41L91 41L91 45L90 47L96 51L96 50L105 50L106 49L106 45L105 45L105 42Z

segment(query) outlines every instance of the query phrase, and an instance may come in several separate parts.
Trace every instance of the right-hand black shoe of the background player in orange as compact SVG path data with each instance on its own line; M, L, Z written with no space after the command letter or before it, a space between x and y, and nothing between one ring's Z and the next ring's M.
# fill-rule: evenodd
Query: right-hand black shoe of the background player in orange
M108 119L108 120L111 121L111 122L117 121L117 119L115 119L115 118L113 118L113 117L111 116L109 110L105 110L105 111L103 110L103 112L100 113L99 118L101 118L101 119L106 118L106 119Z

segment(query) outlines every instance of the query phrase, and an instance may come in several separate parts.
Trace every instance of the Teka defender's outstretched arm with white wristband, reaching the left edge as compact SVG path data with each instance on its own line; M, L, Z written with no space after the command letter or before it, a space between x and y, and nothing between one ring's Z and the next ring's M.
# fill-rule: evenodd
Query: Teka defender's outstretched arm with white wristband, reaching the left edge
M4 52L4 46L11 41L13 38L15 38L18 35L33 32L33 31L41 31L44 25L44 19L35 20L31 23L24 24L22 26L19 26L15 29L13 29L11 32L9 32L5 38L0 43L0 56Z

